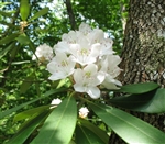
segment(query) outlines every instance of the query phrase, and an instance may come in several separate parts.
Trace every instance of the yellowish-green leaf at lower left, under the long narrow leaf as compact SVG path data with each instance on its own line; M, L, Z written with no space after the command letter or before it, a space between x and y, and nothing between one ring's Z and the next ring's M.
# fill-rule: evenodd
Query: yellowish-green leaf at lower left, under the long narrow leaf
M14 115L13 121L16 122L16 121L24 120L26 118L32 118L34 115L37 115L37 114L44 112L48 108L50 108L50 106L41 106L41 107L37 107L37 108L33 108L33 109L20 112L16 115Z

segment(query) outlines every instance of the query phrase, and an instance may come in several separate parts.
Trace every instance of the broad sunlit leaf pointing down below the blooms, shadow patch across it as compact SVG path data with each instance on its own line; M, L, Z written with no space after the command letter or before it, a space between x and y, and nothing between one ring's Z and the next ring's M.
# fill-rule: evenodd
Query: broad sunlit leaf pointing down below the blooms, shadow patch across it
M74 97L67 97L48 115L38 135L31 144L68 144L77 121L77 106Z

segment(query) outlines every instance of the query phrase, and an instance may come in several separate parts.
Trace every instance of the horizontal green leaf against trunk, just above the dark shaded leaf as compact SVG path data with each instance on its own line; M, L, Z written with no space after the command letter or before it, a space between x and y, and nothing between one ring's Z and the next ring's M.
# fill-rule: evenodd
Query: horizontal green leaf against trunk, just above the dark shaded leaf
M144 93L151 90L158 88L160 86L155 82L145 82L145 84L131 84L122 86L119 89L120 92L129 92L129 93Z

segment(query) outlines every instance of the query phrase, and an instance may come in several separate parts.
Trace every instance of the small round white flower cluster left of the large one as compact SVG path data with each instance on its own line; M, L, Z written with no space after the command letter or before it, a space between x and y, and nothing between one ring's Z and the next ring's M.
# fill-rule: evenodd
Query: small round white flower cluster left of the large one
M53 48L46 44L40 45L36 51L35 55L40 60L51 60L53 58ZM33 55L32 59L35 60L36 56Z

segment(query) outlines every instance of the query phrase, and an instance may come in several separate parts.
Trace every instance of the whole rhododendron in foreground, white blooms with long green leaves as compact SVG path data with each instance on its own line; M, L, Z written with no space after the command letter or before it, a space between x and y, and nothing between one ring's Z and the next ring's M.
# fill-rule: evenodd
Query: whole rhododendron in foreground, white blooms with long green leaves
M18 113L14 122L24 123L7 143L108 144L112 131L130 144L165 143L163 132L119 109L163 113L165 89L154 82L122 86L124 69L112 45L102 30L81 23L54 47L36 47L32 59L45 68L52 89L0 118L47 97L52 102Z

